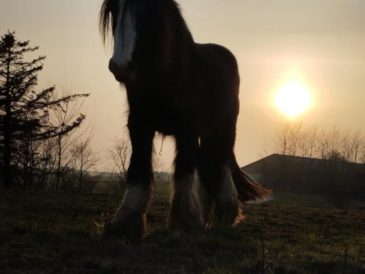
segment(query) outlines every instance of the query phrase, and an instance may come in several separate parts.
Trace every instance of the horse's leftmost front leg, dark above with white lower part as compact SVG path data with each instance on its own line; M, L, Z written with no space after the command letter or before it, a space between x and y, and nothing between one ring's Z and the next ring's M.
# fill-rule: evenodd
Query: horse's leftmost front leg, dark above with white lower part
M127 187L114 219L105 225L106 235L144 237L146 211L154 190L152 169L155 132L148 125L128 118L132 155L127 171Z

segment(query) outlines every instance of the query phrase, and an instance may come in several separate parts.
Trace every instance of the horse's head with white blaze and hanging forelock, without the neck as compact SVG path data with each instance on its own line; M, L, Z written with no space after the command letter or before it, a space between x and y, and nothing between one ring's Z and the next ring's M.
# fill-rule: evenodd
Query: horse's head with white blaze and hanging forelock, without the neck
M151 2L153 0L104 0L102 4L99 26L103 42L105 43L108 31L112 32L114 39L114 51L109 61L109 70L121 83L133 80L135 77L133 56L136 45L141 45L140 38L143 36L143 31L147 33L150 28L146 24L150 12L146 11L149 5L151 6ZM137 42L138 40L141 42ZM146 43L146 41L143 42Z

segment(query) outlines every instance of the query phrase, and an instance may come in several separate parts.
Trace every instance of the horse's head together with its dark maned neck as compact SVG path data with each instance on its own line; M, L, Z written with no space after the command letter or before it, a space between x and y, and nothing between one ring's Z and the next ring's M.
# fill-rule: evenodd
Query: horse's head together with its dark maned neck
M188 58L187 44L194 42L174 0L104 0L99 23L104 43L111 25L109 70L124 84L171 73L177 59Z

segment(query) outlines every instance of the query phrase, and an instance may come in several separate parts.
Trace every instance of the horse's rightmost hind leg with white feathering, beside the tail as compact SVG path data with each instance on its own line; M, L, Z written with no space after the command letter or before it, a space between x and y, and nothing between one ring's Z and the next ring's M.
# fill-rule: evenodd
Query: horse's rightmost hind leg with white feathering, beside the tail
M234 141L235 131L227 129L200 139L202 182L210 201L215 202L216 221L227 225L234 224L240 216L238 193L229 167ZM205 216L208 214L205 212Z

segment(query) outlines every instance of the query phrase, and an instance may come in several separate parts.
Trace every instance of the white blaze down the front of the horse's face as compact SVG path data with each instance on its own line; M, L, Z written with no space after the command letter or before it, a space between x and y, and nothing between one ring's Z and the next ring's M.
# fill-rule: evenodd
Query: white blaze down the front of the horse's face
M125 0L119 1L119 14L116 18L116 28L114 31L114 53L112 60L118 66L126 66L127 62L132 59L132 52L134 50L136 31L132 21L132 13L130 8L127 8L124 15L124 22L122 24L122 14ZM122 37L123 26L123 37Z

